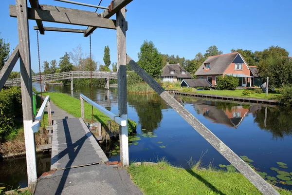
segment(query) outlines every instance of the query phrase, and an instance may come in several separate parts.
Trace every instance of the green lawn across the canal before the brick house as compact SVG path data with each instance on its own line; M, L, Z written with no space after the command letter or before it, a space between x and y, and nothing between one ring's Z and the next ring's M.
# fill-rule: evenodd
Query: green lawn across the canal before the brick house
M262 98L262 99L270 99L274 96L279 96L279 94L276 93L269 93L268 97L266 97L266 93L253 93L250 96L243 96L242 95L243 89L236 89L236 90L204 90L204 91L196 91L195 93L198 94L213 94L213 95L220 95L220 96L235 96L235 97L247 97L247 98ZM253 91L251 89L251 91Z

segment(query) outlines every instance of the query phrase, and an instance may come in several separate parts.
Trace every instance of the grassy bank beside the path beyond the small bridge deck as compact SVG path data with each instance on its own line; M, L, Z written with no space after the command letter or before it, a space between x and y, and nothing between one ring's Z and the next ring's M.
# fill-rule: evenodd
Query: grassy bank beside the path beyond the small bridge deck
M54 104L66 111L67 113L73 115L74 117L81 117L81 102L79 99L73 98L67 94L61 93L43 93L43 96L50 96L50 99ZM84 101L84 118L85 121L91 121L91 105ZM93 108L93 119L94 121L99 121L103 127L107 128L109 117ZM118 131L118 125L111 125L111 129L114 132ZM128 132L132 133L136 129L136 122L128 119Z

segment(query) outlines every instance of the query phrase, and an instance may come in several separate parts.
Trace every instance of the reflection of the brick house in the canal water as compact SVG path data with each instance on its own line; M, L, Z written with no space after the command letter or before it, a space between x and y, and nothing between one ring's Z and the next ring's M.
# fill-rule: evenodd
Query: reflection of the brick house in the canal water
M199 99L194 104L197 112L210 119L214 123L225 124L237 128L243 118L249 113L251 106L227 103L221 101L208 101Z

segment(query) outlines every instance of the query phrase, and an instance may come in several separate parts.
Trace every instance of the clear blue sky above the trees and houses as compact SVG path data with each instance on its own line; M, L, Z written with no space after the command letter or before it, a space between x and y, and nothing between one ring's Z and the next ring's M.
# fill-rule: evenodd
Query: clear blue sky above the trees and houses
M99 0L76 1L99 3ZM39 3L95 11L95 8L54 0L39 0ZM15 4L15 0L1 0L0 36L10 42L12 51L18 44L18 31L17 19L9 16L9 4ZM110 0L101 3L102 6L109 4ZM291 7L292 0L133 0L127 6L127 53L137 60L140 46L147 39L153 41L161 53L186 59L195 58L198 52L204 53L211 45L223 53L230 53L232 48L256 51L279 45L292 56ZM36 22L30 20L32 69L37 72L35 25ZM44 22L44 26L86 28L50 22ZM109 45L111 61L116 62L115 30L96 29L91 38L95 60L103 64L104 47ZM46 32L40 35L41 65L44 60L58 61L78 44L89 53L89 38L82 34ZM19 71L18 64L14 70Z

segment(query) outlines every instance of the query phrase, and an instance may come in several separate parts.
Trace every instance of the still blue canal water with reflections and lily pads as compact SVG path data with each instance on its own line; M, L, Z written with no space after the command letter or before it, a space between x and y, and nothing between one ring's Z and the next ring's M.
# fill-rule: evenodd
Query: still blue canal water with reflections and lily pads
M49 92L60 92L79 98L90 97L90 87L48 85ZM111 112L118 113L117 88L109 93L94 88L93 100ZM278 174L270 168L292 172L292 111L280 107L241 105L222 101L175 96L181 104L239 156L248 156L257 171L268 176ZM230 164L199 133L184 121L156 94L128 94L128 118L136 121L137 141L129 145L130 161L157 161L162 157L175 166L187 168L188 161L218 167ZM118 142L110 142L103 150L111 161L119 160ZM287 164L280 168L277 162ZM1 165L2 166L2 165ZM284 166L285 167L285 166ZM1 182L1 181L0 181ZM292 189L290 185L277 183Z

